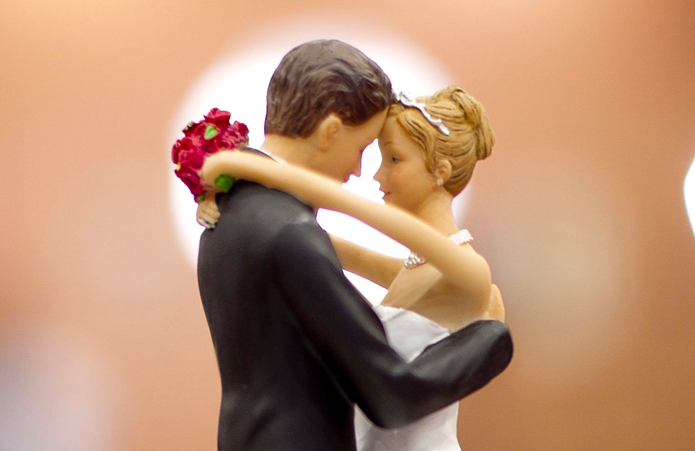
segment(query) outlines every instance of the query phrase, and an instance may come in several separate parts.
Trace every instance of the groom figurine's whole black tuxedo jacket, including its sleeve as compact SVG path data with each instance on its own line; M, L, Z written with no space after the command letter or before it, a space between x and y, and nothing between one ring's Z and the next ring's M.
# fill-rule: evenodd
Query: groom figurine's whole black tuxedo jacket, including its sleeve
M399 427L509 363L507 327L477 321L407 364L310 207L245 181L218 205L198 281L222 379L219 450L354 451L354 403L376 425Z

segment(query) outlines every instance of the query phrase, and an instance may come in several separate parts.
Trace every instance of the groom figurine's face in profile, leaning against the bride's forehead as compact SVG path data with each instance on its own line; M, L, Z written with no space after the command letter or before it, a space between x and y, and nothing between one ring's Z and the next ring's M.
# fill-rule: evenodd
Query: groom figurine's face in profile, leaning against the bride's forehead
M359 176L364 148L372 144L386 121L386 109L359 126L343 126L329 149L329 158L322 173L347 182L352 174Z

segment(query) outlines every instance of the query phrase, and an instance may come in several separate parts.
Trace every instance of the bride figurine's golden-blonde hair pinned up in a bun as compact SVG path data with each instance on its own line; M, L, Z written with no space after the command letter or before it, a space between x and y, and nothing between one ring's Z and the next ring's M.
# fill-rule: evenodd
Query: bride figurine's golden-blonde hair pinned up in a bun
M432 173L442 159L451 163L451 176L444 183L444 188L456 196L471 180L475 162L487 158L495 143L495 134L485 110L473 96L453 85L432 96L418 97L416 101L424 103L425 110L434 119L443 121L449 135L441 133L420 110L407 108L402 103L391 105L389 117L395 117L406 133L420 145L427 169Z

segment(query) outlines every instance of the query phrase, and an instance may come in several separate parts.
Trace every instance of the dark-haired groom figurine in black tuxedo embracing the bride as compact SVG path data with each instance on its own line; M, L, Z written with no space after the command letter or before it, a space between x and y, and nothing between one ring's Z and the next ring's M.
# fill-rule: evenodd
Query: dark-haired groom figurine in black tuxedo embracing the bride
M261 152L345 181L395 101L375 62L339 41L302 44L268 87ZM480 389L512 357L477 321L411 363L345 279L311 207L240 180L200 241L200 295L222 379L218 449L354 451L354 404L400 427Z

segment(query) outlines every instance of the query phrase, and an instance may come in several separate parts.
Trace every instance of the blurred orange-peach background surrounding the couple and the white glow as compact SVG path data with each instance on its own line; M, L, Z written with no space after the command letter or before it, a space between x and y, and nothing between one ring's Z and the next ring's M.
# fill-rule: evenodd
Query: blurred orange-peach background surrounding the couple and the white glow
M689 0L1 0L0 449L215 449L168 121L313 15L416 42L496 131L461 221L516 354L461 403L464 450L695 449Z

